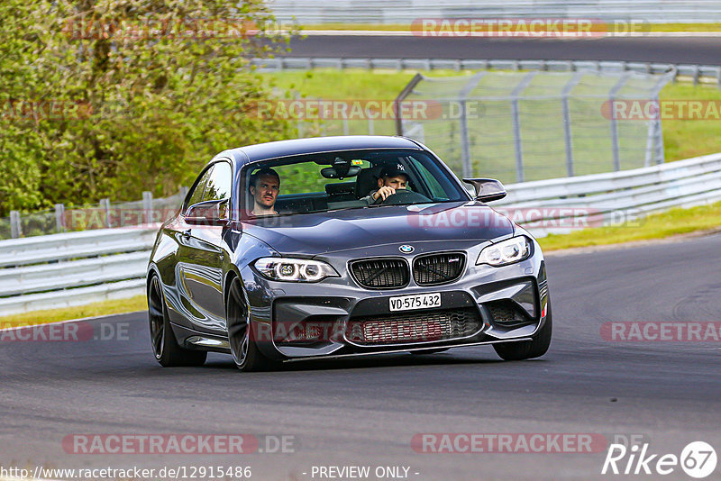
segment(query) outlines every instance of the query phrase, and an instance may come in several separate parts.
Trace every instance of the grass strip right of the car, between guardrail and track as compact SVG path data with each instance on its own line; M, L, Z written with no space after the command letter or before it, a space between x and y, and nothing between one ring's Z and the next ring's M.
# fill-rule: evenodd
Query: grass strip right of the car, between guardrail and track
M551 251L665 239L695 231L719 229L721 229L721 203L716 203L656 213L634 222L634 225L590 228L563 235L551 234L539 239L538 242L543 251Z

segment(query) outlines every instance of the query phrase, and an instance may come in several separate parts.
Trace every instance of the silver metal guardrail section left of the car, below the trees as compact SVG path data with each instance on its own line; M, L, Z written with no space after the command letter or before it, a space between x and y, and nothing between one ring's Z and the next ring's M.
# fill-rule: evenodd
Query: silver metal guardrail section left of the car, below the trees
M140 295L158 226L0 241L0 315Z

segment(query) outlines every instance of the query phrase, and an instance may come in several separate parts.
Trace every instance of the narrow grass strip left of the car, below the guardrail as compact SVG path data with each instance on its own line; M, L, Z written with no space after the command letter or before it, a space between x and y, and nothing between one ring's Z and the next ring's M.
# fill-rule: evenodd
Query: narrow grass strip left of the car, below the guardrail
M116 299L94 304L65 307L48 311L35 311L32 313L14 314L0 317L0 328L29 326L45 322L69 321L83 317L95 317L120 313L134 313L145 311L148 304L145 295L136 295L127 299Z

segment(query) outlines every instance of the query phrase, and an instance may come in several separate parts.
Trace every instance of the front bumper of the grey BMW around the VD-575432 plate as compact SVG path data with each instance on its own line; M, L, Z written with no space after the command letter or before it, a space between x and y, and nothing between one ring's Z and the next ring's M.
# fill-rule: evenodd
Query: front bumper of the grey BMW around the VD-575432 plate
M543 254L534 241L531 257L501 268L475 265L488 243L468 247L462 276L442 286L363 288L348 274L349 259L397 252L377 246L362 252L326 254L341 274L319 283L270 281L253 268L242 278L251 306L251 336L269 358L342 357L381 352L446 349L534 336L545 320L548 286ZM408 259L427 252L459 250L461 242L421 244ZM397 257L397 256L395 256ZM438 293L441 306L391 312L389 298Z

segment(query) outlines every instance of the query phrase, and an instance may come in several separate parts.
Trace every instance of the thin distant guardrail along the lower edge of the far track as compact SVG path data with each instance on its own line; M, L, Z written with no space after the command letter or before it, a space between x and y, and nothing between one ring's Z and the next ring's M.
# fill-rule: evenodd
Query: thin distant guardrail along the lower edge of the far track
M309 58L283 57L276 59L252 59L259 71L297 70L312 68L391 68L395 70L542 70L549 72L639 72L667 74L674 80L691 80L716 83L721 88L721 66L686 65L651 62L627 62L607 60L515 60L515 59L369 59L369 58Z

